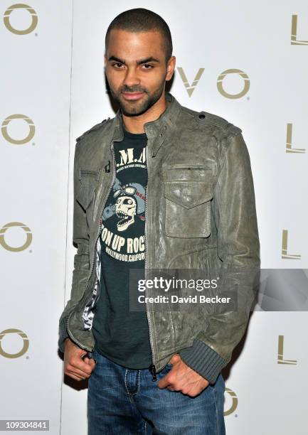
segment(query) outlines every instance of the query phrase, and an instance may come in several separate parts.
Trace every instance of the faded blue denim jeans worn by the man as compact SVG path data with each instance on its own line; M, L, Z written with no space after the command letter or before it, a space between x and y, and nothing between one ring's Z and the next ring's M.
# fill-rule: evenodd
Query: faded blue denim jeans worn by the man
M88 435L225 435L221 374L214 385L190 397L157 387L171 364L153 382L149 369L127 369L96 350L92 357L96 366L87 390Z

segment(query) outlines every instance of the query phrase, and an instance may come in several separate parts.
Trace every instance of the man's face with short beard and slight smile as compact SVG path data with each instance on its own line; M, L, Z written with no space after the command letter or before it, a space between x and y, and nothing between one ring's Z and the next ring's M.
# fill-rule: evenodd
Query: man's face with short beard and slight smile
M157 31L129 32L112 29L105 54L105 73L112 97L126 116L137 116L164 93L175 67L166 63L164 40Z

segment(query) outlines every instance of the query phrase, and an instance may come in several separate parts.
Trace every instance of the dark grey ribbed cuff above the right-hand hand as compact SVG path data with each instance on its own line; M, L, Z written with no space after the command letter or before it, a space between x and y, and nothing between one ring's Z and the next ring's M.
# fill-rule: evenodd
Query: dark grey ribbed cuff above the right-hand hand
M211 384L216 382L221 370L227 365L221 355L197 338L193 340L191 348L180 350L179 355L186 365Z

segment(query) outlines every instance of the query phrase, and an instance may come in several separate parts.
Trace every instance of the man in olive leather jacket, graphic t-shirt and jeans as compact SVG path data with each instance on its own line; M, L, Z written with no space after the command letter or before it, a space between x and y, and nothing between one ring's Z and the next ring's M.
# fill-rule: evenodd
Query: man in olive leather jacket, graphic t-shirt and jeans
M120 109L77 139L78 252L59 347L65 374L89 378L92 435L225 433L221 370L260 267L253 178L238 127L165 92L175 65L160 16L117 16L105 73ZM160 268L218 269L238 309L130 310L129 272Z

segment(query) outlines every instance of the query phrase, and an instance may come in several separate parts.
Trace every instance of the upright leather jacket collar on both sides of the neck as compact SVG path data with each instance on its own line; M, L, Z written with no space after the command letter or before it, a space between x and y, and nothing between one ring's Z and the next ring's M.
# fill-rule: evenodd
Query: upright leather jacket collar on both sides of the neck
M154 121L144 124L144 131L147 134L147 139L151 144L152 156L156 156L160 146L164 143L166 136L173 131L176 125L176 119L179 115L181 104L170 92L165 92L166 100L169 105L165 111ZM117 114L112 119L114 130L112 141L118 142L123 140L123 119L122 112L119 109Z

